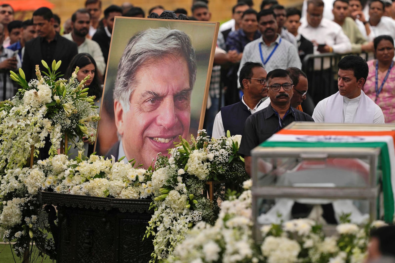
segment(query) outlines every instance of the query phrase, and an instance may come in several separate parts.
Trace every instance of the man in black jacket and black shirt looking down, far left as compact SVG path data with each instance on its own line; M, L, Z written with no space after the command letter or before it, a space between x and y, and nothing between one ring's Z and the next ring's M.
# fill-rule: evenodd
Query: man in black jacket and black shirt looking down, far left
M33 13L33 24L36 26L38 37L26 42L23 54L22 69L26 80L36 78L36 65L41 71L47 71L41 60L51 65L53 60L62 60L57 72L66 72L73 56L78 54L77 45L62 37L55 31L53 13L47 7L40 7Z

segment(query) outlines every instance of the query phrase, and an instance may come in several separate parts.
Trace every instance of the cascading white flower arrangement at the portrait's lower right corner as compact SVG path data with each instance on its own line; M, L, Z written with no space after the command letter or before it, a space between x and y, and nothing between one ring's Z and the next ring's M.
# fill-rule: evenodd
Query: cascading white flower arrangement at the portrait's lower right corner
M215 200L202 192L207 181L233 181L238 187L248 177L244 160L237 154L241 136L210 138L198 131L191 144L181 143L169 150L170 157L158 157L152 173L154 215L144 238L153 235L152 260L166 259L192 226L204 220L213 223L224 200L224 186L215 189Z

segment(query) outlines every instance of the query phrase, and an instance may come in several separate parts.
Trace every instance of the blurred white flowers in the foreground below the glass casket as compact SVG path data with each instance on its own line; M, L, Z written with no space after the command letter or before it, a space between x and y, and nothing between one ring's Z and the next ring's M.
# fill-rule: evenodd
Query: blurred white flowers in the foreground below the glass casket
M245 182L248 189L251 181ZM263 226L263 243L252 239L252 196L246 190L221 205L214 226L199 222L175 248L166 263L359 263L366 257L371 228L385 226L374 221L366 226L343 223L337 234L325 237L322 226L310 219L290 220ZM345 218L347 221L347 218Z

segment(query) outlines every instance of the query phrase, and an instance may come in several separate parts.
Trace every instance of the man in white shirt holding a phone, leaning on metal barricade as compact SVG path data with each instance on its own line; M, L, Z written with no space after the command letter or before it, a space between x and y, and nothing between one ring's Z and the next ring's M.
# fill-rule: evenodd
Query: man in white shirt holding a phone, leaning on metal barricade
M306 39L318 45L314 53L335 52L339 54L351 51L350 39L344 34L341 26L323 18L324 2L322 0L307 1L307 16L301 21L298 32Z

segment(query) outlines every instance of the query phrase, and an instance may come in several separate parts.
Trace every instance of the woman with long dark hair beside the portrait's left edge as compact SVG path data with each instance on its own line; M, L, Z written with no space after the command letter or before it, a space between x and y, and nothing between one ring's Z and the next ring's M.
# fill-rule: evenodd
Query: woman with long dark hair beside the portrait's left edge
M64 77L70 78L71 74L75 71L75 68L79 67L79 71L77 72L77 80L81 82L86 76L90 75L90 78L85 82L85 86L89 88L88 95L89 96L96 96L94 99L95 105L100 106L100 98L102 97L103 93L103 83L102 83L102 75L97 69L96 62L92 58L92 56L88 53L79 53L73 57L70 62L69 67L66 70L66 74ZM93 153L94 149L94 142L89 142L87 138L83 138L84 140L84 148L85 153L84 155L89 156ZM70 148L68 155L70 158L75 157L78 151L76 148Z

